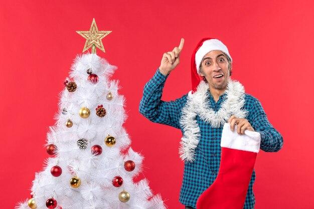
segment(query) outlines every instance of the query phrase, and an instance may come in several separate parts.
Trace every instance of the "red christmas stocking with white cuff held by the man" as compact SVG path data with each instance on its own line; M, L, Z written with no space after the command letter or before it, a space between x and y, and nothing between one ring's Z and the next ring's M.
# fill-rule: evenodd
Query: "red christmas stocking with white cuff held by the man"
M224 125L218 176L197 200L197 209L243 209L259 145L258 132L239 135L236 127Z

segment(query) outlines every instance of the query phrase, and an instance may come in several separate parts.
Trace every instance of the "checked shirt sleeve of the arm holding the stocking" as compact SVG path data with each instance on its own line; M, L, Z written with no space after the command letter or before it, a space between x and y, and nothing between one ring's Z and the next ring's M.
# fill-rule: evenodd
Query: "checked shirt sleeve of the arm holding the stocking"
M281 149L283 138L281 134L272 127L267 119L261 103L256 99L251 111L251 125L261 136L261 150L265 152L277 152Z

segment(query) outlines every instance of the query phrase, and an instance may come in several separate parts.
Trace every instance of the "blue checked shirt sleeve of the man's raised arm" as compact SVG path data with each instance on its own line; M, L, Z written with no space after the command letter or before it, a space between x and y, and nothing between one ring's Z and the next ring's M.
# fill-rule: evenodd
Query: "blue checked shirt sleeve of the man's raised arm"
M181 109L185 104L187 95L175 101L162 101L163 88L167 78L168 76L163 75L158 69L145 84L139 112L152 122L180 128Z

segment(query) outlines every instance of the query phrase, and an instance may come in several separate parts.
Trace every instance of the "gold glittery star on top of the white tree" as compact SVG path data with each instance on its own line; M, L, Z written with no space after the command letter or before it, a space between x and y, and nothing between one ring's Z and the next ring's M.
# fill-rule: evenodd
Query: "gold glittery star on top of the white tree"
M98 31L96 21L93 18L92 25L90 26L89 31L77 31L79 35L84 37L86 39L83 52L88 50L89 48L92 48L92 53L96 53L96 47L100 49L101 51L105 52L105 49L103 48L102 41L105 36L110 34L112 31Z

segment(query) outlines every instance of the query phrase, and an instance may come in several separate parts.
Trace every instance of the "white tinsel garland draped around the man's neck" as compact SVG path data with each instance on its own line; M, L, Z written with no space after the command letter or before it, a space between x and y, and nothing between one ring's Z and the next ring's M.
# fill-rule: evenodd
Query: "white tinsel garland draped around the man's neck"
M180 124L184 135L180 142L179 153L181 159L187 162L194 161L195 149L199 143L201 130L196 120L197 115L201 120L210 123L212 127L218 128L232 115L244 118L247 114L247 111L243 109L244 87L239 82L229 80L225 91L226 100L217 112L210 108L208 89L208 84L201 81L196 92L189 93L188 101L182 109Z

